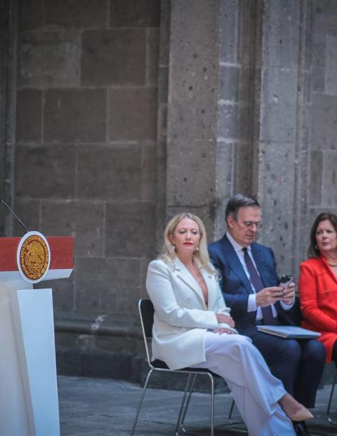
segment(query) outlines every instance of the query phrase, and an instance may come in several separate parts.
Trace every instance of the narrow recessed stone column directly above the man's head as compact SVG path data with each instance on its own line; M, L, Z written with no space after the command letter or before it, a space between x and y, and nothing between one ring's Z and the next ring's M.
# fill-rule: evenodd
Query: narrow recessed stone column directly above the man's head
M220 1L216 239L226 229L225 206L229 197L236 192L253 194L262 10L256 1Z

